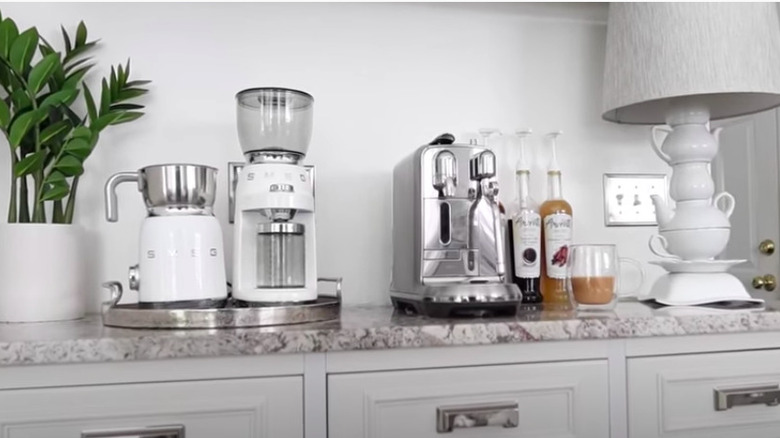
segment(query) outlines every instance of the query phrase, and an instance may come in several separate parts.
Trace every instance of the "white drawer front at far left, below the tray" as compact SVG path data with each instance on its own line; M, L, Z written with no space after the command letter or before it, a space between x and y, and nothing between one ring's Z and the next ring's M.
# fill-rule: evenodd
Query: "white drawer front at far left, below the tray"
M301 377L0 391L2 438L303 437Z

